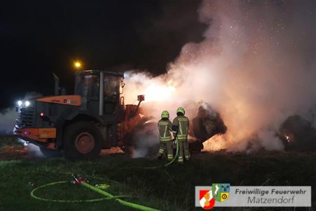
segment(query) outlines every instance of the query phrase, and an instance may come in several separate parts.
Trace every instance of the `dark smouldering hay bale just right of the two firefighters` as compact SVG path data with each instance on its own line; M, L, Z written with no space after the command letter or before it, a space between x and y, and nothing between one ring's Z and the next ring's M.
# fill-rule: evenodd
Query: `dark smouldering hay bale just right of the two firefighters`
M206 103L199 106L198 114L192 123L194 136L201 142L205 142L216 134L223 134L227 130L220 114Z

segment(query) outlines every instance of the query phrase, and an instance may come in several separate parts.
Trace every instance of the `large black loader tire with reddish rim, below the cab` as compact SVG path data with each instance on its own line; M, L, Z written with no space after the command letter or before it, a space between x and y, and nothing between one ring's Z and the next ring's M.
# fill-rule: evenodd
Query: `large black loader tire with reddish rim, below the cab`
M66 158L95 158L102 149L102 135L92 122L75 122L67 126L64 134Z

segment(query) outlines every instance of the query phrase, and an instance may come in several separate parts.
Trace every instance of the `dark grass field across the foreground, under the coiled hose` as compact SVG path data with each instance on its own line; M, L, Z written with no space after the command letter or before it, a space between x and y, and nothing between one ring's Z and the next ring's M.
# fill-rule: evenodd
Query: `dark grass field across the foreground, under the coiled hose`
M162 210L202 210L194 207L194 186L229 182L231 185L316 185L315 152L261 152L254 155L202 152L185 165L141 169L164 161L131 159L122 154L105 155L93 161L24 159L0 161L0 210L130 210L116 202L55 203L38 201L30 191L46 183L71 180L70 174L88 175L91 184L110 184L112 195L132 195L134 203ZM312 188L311 209L316 199ZM70 184L38 190L37 196L54 199L100 198L89 189ZM293 208L274 208L293 210ZM214 207L213 210L236 210ZM271 210L238 208L238 210ZM295 209L295 210L298 210Z

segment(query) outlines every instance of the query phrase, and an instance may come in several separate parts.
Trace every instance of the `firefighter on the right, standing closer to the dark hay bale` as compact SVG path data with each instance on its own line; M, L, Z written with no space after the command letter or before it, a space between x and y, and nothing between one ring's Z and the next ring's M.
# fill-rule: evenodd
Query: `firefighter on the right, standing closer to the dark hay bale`
M185 110L183 107L177 108L177 117L174 118L172 122L173 137L175 137L177 142L179 143L179 163L183 163L184 158L186 160L190 160L191 157L188 145L189 119L186 116L184 116L184 114Z

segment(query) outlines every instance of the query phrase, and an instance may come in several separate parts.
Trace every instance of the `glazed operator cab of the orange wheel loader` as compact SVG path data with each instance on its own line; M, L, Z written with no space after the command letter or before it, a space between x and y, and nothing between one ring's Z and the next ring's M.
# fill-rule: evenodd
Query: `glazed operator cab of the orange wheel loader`
M85 70L75 73L74 94L81 95L82 109L97 116L114 114L120 106L123 72Z

